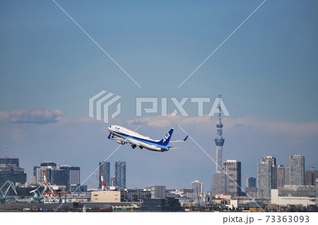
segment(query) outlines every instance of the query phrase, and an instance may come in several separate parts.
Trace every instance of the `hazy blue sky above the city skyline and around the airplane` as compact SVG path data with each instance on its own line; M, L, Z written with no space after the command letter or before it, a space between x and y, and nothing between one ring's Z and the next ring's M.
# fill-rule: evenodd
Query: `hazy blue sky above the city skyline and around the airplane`
M92 120L87 122L88 99L101 90L107 90L122 96L122 114L117 119L131 129L136 129L136 125L127 121L140 119L135 114L136 97L213 99L221 94L233 124L228 133L225 128L224 147L229 154L224 158L238 157L242 161L242 178L255 176L255 163L268 154L278 154L285 165L290 153L305 154L308 159L306 166L317 166L317 159L314 159L317 158L315 127L318 107L317 1L265 1L177 88L262 2L57 1L139 83L139 88L53 1L1 1L0 111L1 118L4 118L0 126L3 134L0 137L1 156L6 147L12 149L12 154L20 157L21 165L25 165L28 178L31 166L56 158L60 164L81 166L83 179L98 164L95 163L98 157L83 162L87 160L85 151L90 151L88 147L103 159L107 157L104 149L117 147L105 140L107 125L95 124ZM37 121L32 117L27 123L12 117L8 119L9 112L23 109L16 112L26 113L25 117L28 117L28 110L33 109L40 112L35 113L40 119ZM54 111L57 113L54 115L54 112L38 109L59 111ZM196 113L193 105L187 106L187 110L191 115ZM204 114L209 110L207 107ZM158 117L153 118L156 119ZM154 138L163 136L172 125L160 127L145 121L141 123L141 132ZM226 120L223 123L226 127ZM281 127L264 127L273 123ZM213 122L204 129L187 122L182 125L194 132L197 142L215 154ZM176 122L174 126L177 126ZM288 129L282 127L295 130L287 132ZM201 131L204 134L200 134ZM174 135L184 136L181 130ZM86 144L87 148L84 148ZM192 144L189 142L189 150L182 154L169 152L160 157L167 162L170 162L168 157L185 157L184 161L188 162L187 156L193 158L196 148ZM59 162L61 156L52 153L57 148L66 154L63 162ZM140 172L138 169L142 164L136 158L147 161L155 154L145 151L136 154L128 146L123 146L123 149L129 154L125 152L114 157L114 161L128 156L133 158L130 163L138 163L134 166L134 174ZM235 149L240 154L235 154ZM253 154L253 149L261 149L261 152ZM188 152L190 150L192 152ZM253 155L250 161L254 164L240 158L242 151ZM78 156L72 158L75 153ZM38 155L41 157L30 157ZM129 165L129 159L126 161ZM192 165L190 161L189 165ZM208 171L200 179L209 189L210 175L215 166L204 165L208 166L200 166L191 172L191 179L200 178L202 171ZM153 170L144 166L148 171ZM178 162L170 170L167 168L167 172L178 171L176 168L182 166L184 163ZM194 165L189 167L196 168ZM254 171L249 172L251 170ZM153 171L160 174L157 172ZM175 175L187 173L179 171ZM136 175L132 175L131 185L152 182L151 176L144 176L139 183L134 183ZM191 179L184 176L180 183L184 186ZM162 183L176 185L173 180L173 176L168 177Z

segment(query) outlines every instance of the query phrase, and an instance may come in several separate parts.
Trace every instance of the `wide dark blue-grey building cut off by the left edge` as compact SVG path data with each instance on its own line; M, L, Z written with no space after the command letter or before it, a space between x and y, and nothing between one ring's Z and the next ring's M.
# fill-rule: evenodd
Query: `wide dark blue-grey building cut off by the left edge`
M18 158L0 158L0 188L7 180L13 182L14 185L26 182L26 173L24 173L24 168L19 167Z

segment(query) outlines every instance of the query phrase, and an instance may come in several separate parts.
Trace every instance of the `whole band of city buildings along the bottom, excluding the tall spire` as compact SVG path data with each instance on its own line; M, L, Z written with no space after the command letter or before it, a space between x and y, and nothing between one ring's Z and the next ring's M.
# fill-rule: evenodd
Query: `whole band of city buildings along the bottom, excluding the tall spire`
M10 159L11 161L11 159ZM1 168L8 167L6 163L1 162ZM18 158L12 160L10 166L18 167ZM100 188L86 189L86 185L79 187L80 184L80 168L77 166L60 165L53 161L44 161L40 166L34 166L33 182L34 184L18 185L16 183L17 195L11 192L10 197L0 200L7 201L8 204L0 204L0 209L6 207L35 207L36 204L44 201L43 196L33 195L35 190L38 193L43 190L44 173L47 182L57 186L57 189L64 194L61 197L57 196L60 203L65 201L67 207L95 207L99 210L103 207L105 210L139 210L146 212L177 212L189 210L204 210L204 211L243 211L261 212L261 210L269 212L284 212L284 211L305 211L316 210L312 205L317 205L317 190L318 190L318 172L314 168L309 171L304 171L303 164L305 160L303 156L290 156L290 166L276 166L276 158L273 156L264 156L261 158L261 163L257 166L258 177L247 178L245 192L239 190L240 183L240 167L241 164L237 160L226 160L222 162L223 171L221 175L224 180L221 180L224 192L213 195L212 192L204 192L204 183L201 180L194 180L189 183L190 188L182 189L167 189L165 185L149 185L143 189L126 188L126 162L118 161L114 163L114 176L111 175L110 162L100 162L101 180L105 183L110 183L106 189ZM287 168L287 169L286 169ZM300 175L300 178L293 177L291 170L293 168L295 174ZM286 171L285 171L286 169ZM304 173L303 173L304 171ZM289 173L288 173L289 172ZM287 175L286 175L287 174ZM303 179L302 177L305 179ZM6 177L13 180L13 177ZM317 179L316 179L317 178ZM299 185L291 185L291 180L297 180ZM288 183L289 182L289 183ZM307 185L302 185L304 182ZM263 185L263 186L262 186ZM257 192L257 186L259 190ZM64 189L63 189L64 188ZM78 190L76 192L76 189ZM64 192L70 190L71 192ZM261 195L266 191L269 196ZM245 194L245 195L244 195ZM15 203L10 202L14 199ZM21 203L19 203L21 202ZM29 203L25 203L29 202ZM83 202L84 204L80 204ZM36 204L34 204L36 203ZM43 203L42 203L43 204ZM292 207L290 207L292 205ZM293 205L297 205L295 208ZM299 207L302 205L303 207ZM107 206L105 208L105 206ZM43 206L42 206L43 208ZM45 207L47 209L47 207ZM310 211L311 212L311 211Z

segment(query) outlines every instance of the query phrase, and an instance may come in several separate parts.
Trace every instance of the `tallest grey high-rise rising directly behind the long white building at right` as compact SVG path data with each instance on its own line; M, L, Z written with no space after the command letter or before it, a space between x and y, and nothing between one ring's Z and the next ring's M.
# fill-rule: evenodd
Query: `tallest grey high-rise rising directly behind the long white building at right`
M290 185L305 185L305 157L290 156Z

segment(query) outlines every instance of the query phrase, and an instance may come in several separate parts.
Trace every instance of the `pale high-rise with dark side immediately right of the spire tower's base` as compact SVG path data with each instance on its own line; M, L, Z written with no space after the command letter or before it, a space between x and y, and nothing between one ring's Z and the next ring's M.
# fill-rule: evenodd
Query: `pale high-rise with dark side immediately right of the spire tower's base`
M222 165L225 176L225 193L232 197L241 195L241 162L227 160Z

